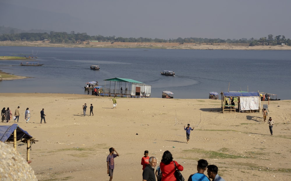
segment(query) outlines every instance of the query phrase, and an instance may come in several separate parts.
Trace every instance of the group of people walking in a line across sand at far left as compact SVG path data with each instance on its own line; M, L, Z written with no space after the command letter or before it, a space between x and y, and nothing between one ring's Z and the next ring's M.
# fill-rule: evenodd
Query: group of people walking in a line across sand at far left
M14 117L13 117L13 114L12 114L12 111L10 110L10 108L8 107L6 110L5 110L5 107L2 109L1 111L1 120L2 122L4 122L4 120L6 121L6 123L8 123L10 120L14 120L14 122L16 121L17 119L17 122L19 121L19 106L15 109L15 113L14 113ZM44 112L44 108L42 108L42 110L40 111L40 123L42 123L42 120L44 120L45 122L45 112ZM24 114L24 119L26 121L26 123L29 122L30 120L30 111L29 111L29 108L26 108L26 111L25 111L25 114ZM46 122L45 122L46 123Z

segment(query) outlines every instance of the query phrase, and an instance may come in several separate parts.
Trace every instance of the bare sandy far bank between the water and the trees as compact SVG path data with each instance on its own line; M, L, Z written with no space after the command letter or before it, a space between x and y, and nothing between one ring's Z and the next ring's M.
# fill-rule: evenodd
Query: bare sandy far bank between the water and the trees
M249 44L228 43L155 43L155 42L93 42L83 44L50 44L49 41L0 41L0 46L38 46L64 48L145 48L145 49L189 49L189 50L291 50L291 46L249 46Z

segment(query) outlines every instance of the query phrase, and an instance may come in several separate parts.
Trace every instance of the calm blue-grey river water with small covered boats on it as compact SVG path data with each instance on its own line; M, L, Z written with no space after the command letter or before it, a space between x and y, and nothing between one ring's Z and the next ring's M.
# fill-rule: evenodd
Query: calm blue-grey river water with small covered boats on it
M151 85L151 97L162 97L162 91L167 90L174 98L208 98L210 91L228 91L230 83L230 91L247 91L249 87L249 91L291 99L289 50L143 50L0 46L1 56L24 56L14 54L33 51L36 61L44 64L25 67L19 66L22 61L0 61L0 70L33 77L1 81L0 92L86 94L86 82L97 80L104 86L104 79L120 77ZM100 64L100 71L90 70L94 64ZM162 70L173 70L176 76L161 75Z

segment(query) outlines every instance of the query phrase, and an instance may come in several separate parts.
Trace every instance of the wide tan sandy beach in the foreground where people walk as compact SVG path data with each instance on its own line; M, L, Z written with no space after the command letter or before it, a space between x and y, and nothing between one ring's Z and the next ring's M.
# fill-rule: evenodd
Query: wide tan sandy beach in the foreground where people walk
M275 121L270 136L262 113L221 113L221 100L118 98L113 109L112 97L93 95L0 93L0 98L1 108L10 107L13 113L20 106L18 125L38 140L30 151L30 166L38 180L109 180L110 147L120 155L115 158L113 180L142 180L145 150L157 157L158 164L169 150L184 167L185 180L197 172L199 159L217 165L225 180L291 176L290 100L269 102L269 116ZM94 116L89 116L90 104ZM27 107L29 123L24 120ZM42 108L46 124L40 124ZM194 127L189 144L184 131L188 123ZM17 151L26 158L25 145L17 146Z

